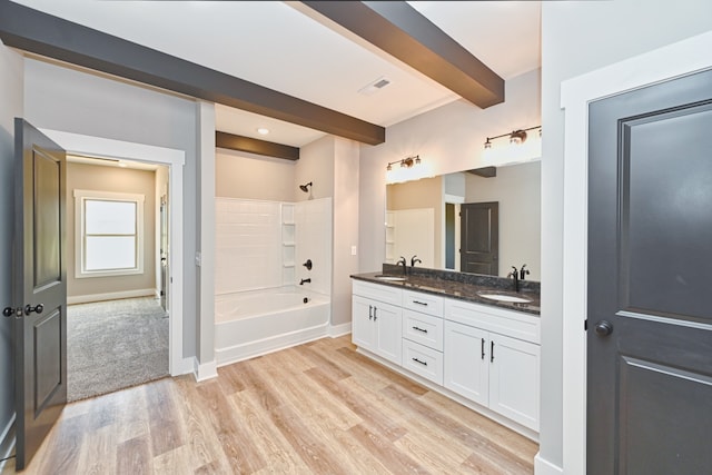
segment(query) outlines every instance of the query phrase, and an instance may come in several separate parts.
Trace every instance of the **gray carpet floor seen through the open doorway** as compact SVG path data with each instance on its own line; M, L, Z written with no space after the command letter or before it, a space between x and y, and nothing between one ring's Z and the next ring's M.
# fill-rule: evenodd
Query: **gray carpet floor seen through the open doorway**
M168 375L168 316L156 298L70 305L67 339L70 402Z

